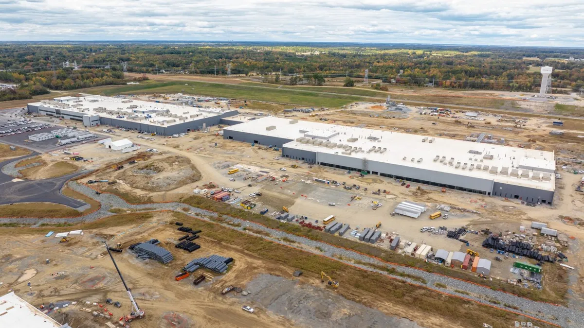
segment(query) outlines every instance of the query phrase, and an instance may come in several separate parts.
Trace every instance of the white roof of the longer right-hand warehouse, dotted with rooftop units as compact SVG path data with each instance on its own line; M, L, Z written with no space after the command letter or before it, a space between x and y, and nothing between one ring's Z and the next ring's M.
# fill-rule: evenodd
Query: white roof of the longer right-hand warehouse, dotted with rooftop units
M545 172L555 168L553 152L273 116L232 125L224 130L291 139L293 141L284 145L288 148L555 190L555 176ZM314 139L329 141L330 144L311 144ZM307 140L308 143L303 142ZM339 145L349 146L350 150L339 148ZM375 151L370 151L373 148ZM451 159L453 162L450 165ZM519 168L522 163L523 168ZM485 170L485 166L488 169Z

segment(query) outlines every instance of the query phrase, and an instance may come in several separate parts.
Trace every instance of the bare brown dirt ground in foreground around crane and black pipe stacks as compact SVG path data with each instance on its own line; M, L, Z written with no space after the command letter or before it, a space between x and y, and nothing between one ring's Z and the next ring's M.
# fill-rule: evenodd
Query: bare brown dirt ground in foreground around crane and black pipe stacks
M76 328L103 327L106 321L115 323L117 318L130 312L131 305L102 241L110 240L110 245L120 242L126 247L157 238L161 240L159 246L171 250L174 256L171 263L163 265L157 261L138 260L127 250L113 255L138 305L146 312L144 319L135 320L132 327L342 327L361 320L370 320L372 324L385 322L387 325L381 325L384 327L418 327L409 320L386 315L391 313L390 308L382 306L383 312L380 312L331 294L317 279L301 277L296 280L291 277L293 268L266 262L236 247L207 239L204 232L197 239L201 249L196 254L178 250L172 246L182 233L168 221L173 221L170 214L157 214L143 222L140 229L135 229L135 225L93 229L74 236L68 243L59 243L53 236L45 238L44 234L3 236L0 240L0 245L4 246L0 248L3 282L0 292L12 289L36 306L43 301L45 305L55 302L57 306L69 303L53 316ZM192 278L173 279L180 267L190 260L211 254L235 259L227 274L209 272L212 280L207 279L197 286L193 285ZM27 282L31 283L32 291ZM250 297L221 296L221 289L228 285L244 287L252 294ZM105 310L91 303L103 305L106 298L122 303L119 309L105 305L113 313L112 319L93 317L81 311L82 308ZM304 299L310 299L314 306ZM73 301L78 304L71 305ZM85 302L91 303L86 305ZM286 306L293 304L300 307L293 312L286 310ZM242 311L242 305L253 306L255 313ZM371 306L375 308L376 302ZM303 315L309 312L312 316ZM349 315L349 322L346 322L346 315Z

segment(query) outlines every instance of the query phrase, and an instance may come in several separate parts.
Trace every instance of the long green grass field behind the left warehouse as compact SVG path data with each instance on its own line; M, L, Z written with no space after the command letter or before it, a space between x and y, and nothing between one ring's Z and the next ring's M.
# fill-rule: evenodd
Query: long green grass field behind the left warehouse
M318 87L316 87L318 88ZM260 100L263 102L285 103L314 107L341 107L345 104L363 101L360 96L327 95L312 90L276 89L265 86L232 85L221 83L176 81L150 82L140 85L106 86L85 90L88 93L105 96L132 93L187 93L192 95L227 97L232 99Z

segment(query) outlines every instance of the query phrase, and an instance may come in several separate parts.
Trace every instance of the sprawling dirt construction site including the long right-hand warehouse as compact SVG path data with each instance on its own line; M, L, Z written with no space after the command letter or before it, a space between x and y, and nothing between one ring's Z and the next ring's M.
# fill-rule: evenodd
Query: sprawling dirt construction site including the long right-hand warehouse
M266 116L158 134L33 111L130 151L2 158L78 173L72 197L99 206L0 212L0 294L74 328L584 325L582 121L389 100Z

